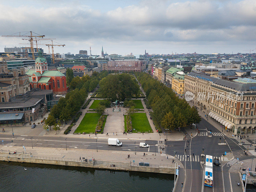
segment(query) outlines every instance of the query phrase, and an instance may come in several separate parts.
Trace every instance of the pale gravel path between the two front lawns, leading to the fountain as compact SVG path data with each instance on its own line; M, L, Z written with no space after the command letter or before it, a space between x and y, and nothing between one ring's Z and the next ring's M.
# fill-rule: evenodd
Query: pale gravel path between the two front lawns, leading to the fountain
M108 117L104 127L104 133L113 135L113 132L115 134L116 132L117 133L124 132L124 111L126 108L118 107L118 109L119 108L121 109L121 112L113 112L113 108L107 108L105 110L104 115L108 114Z

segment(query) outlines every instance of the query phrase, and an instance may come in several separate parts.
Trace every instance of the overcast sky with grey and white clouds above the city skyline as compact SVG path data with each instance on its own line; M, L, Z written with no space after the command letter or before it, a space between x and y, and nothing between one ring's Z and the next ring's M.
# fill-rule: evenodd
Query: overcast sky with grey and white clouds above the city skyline
M56 38L66 44L54 47L59 53L89 54L91 46L101 54L101 45L108 54L256 52L255 0L11 2L0 2L0 35L33 31ZM0 52L19 43L26 42L0 37Z

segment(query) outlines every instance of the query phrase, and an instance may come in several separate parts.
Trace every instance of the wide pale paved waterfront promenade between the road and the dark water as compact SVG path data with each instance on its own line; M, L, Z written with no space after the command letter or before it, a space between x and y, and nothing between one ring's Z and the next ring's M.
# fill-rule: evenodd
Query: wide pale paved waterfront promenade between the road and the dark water
M0 152L0 155L7 155L8 150L10 150L9 147L1 146L1 149L5 150L5 152ZM22 147L12 147L11 154L17 151L17 154L10 155L10 156L22 156L22 151L24 151L24 148ZM167 164L167 165L173 165L172 159L174 159L172 156L168 156L168 159L166 159L166 156L163 154L160 155L160 153L157 153L155 156L155 153L151 152L145 152L146 156L143 156L143 152L129 152L129 151L108 151L108 150L99 150L98 152L96 149L70 149L66 150L65 148L31 148L26 147L26 152L31 153L33 156L47 156L47 157L59 157L59 158L72 158L72 159L79 159L81 157L85 157L86 159L94 158L95 160L107 160L107 161L123 161L123 162L132 162L135 161L135 164L138 164L139 162L146 162L149 164L154 165L160 165L160 164ZM128 155L130 155L130 158L127 158ZM178 165L180 165L180 168L183 168L182 163L178 159L174 159Z

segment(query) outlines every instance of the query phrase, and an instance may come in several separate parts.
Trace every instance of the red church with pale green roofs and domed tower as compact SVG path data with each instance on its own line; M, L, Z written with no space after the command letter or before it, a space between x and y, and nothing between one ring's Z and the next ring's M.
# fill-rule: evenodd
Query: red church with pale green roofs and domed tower
M29 76L30 89L48 89L56 94L67 92L66 76L59 71L49 71L47 61L42 57L42 52L38 52L36 58L36 70L29 70L26 74Z

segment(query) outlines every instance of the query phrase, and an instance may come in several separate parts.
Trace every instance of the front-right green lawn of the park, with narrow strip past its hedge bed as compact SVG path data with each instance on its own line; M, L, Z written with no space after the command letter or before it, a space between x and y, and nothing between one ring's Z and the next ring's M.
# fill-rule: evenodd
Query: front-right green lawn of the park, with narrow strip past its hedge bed
M134 113L132 114L132 132L152 132L151 126L148 122L146 113ZM124 130L126 129L126 115L124 116Z

